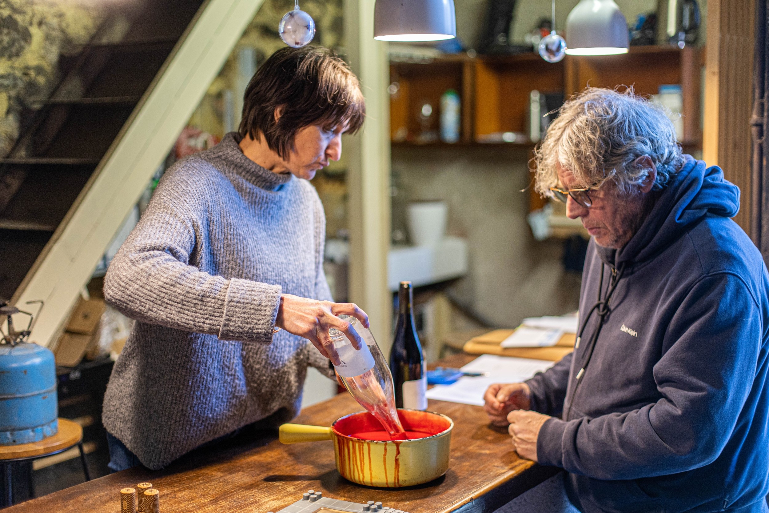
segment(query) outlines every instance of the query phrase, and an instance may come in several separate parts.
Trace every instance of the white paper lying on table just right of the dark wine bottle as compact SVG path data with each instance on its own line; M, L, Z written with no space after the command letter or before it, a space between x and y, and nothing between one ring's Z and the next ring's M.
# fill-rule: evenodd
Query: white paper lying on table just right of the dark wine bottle
M536 372L545 371L554 361L510 358L507 356L481 355L462 367L466 372L488 372L488 376L471 378L464 376L451 385L436 385L428 390L429 399L460 402L465 405L483 406L486 388L494 383L514 383L531 378Z

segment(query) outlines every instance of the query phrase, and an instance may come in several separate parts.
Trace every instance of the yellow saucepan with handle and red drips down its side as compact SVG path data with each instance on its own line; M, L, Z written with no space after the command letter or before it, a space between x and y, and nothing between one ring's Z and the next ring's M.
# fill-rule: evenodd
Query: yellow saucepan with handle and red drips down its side
M280 441L334 441L339 474L358 485L399 488L421 485L441 477L448 470L449 446L454 421L431 411L398 409L406 431L424 431L426 438L401 441L363 440L351 435L382 431L379 421L368 411L338 418L331 427L284 424Z

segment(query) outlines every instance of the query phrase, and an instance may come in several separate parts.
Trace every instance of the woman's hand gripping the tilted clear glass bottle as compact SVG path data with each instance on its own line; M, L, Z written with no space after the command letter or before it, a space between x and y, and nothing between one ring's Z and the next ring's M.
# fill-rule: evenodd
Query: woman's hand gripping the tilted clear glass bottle
M328 336L329 329L337 328L344 333L356 349L365 344L361 335L355 332L348 321L337 317L342 314L357 318L364 328L368 328L368 315L354 303L333 303L281 294L281 305L278 307L275 325L292 335L307 338L321 351L321 355L329 358L334 365L339 365L341 361L334 348L334 342Z

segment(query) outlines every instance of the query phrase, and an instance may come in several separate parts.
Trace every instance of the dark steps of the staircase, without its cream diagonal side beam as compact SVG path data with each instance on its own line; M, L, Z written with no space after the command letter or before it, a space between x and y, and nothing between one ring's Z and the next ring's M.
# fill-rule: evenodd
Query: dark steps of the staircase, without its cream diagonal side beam
M63 78L52 98L22 112L22 136L0 159L0 300L22 285L200 5L112 5L92 42L59 62ZM103 41L126 18L131 26L121 40Z

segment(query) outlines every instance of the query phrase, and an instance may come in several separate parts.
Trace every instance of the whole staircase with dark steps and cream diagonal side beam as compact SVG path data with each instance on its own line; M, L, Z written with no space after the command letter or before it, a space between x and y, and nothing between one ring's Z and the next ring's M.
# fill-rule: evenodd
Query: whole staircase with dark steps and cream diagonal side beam
M62 81L22 113L22 135L0 158L0 301L45 301L32 333L42 344L261 0L109 3L102 28L60 59Z

